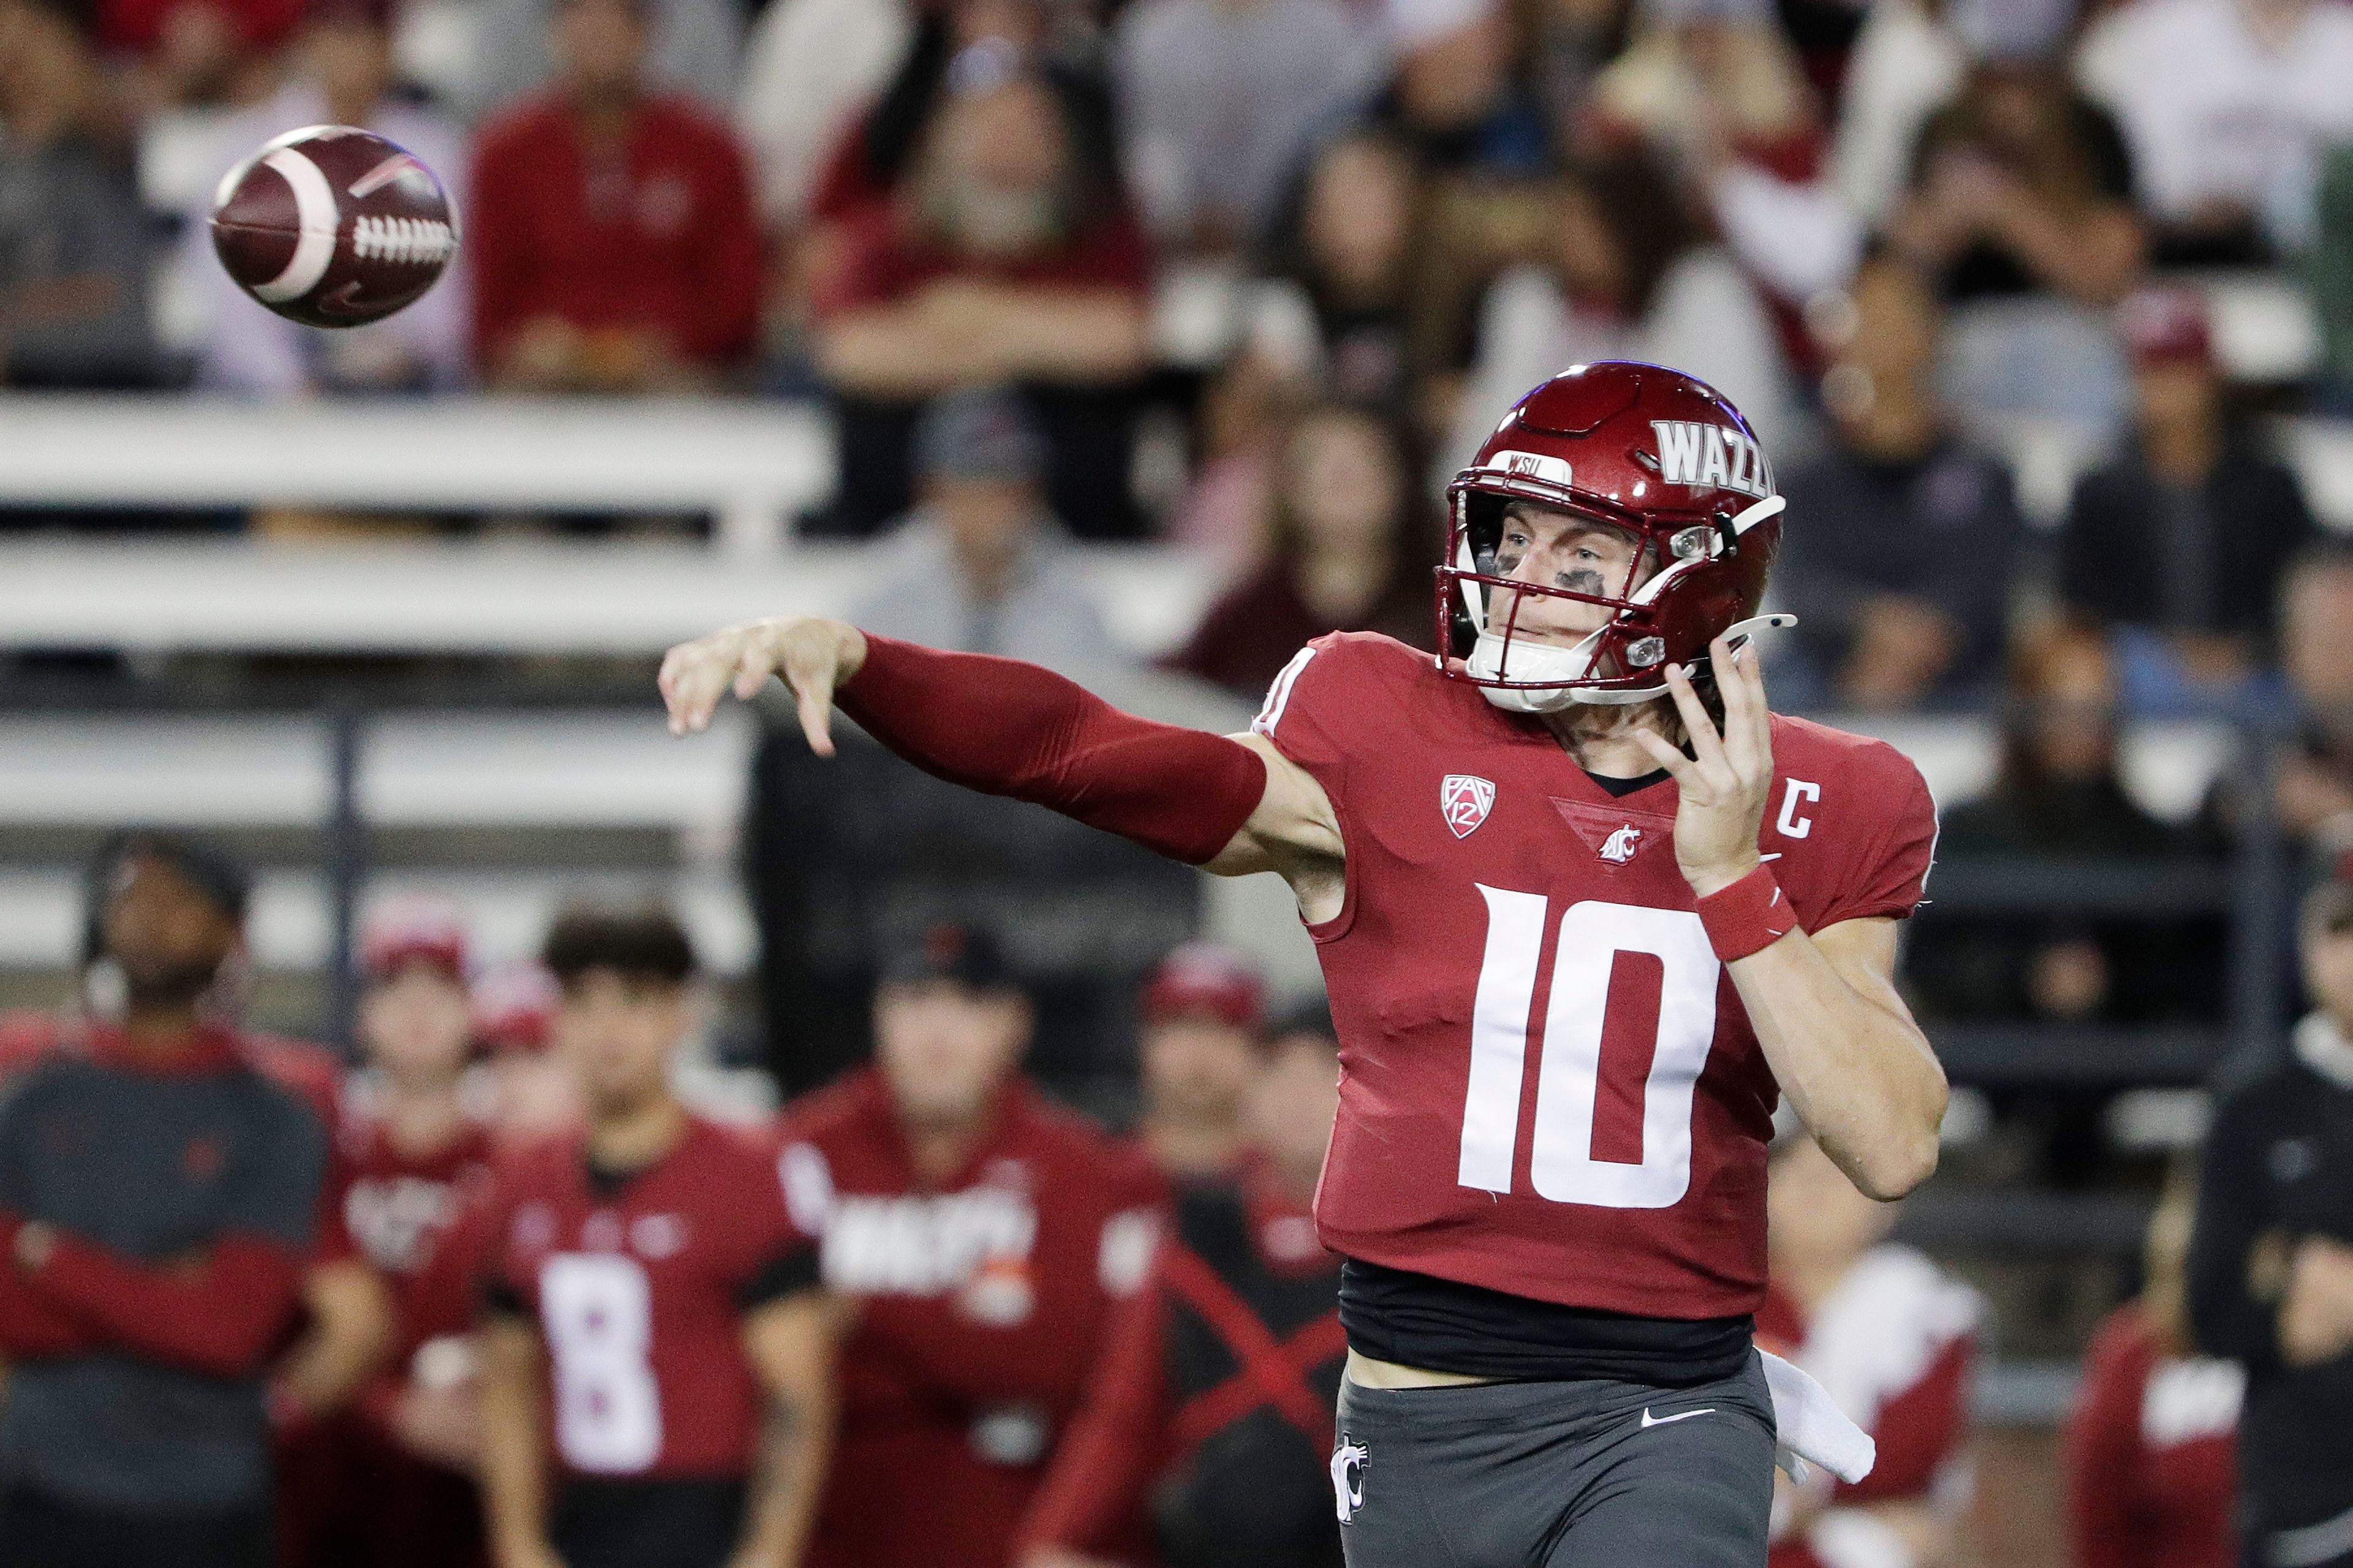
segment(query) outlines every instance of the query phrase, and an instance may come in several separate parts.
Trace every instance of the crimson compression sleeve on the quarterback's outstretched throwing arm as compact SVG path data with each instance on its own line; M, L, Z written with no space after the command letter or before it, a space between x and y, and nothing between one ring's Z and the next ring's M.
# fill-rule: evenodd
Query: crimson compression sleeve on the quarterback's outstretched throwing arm
M866 637L842 712L925 773L1009 795L1207 865L1266 795L1266 762L1200 729L1120 712L1016 658Z

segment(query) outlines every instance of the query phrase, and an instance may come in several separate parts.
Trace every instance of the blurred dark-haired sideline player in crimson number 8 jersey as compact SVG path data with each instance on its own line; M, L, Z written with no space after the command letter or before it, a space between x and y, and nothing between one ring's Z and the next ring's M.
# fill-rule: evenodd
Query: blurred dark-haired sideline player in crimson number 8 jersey
M772 1150L671 1091L694 969L678 924L569 914L546 959L588 1126L501 1159L480 1220L494 1559L791 1568L833 1401L814 1246Z

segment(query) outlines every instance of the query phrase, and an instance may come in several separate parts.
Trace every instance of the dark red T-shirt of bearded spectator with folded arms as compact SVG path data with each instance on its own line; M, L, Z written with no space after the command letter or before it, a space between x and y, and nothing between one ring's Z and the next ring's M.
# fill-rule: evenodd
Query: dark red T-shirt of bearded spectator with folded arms
M819 268L819 315L896 306L944 280L1056 289L1151 289L1151 247L1125 209L1092 223L1068 242L1024 256L984 259L946 249L922 233L892 200L868 202L840 223L840 242Z

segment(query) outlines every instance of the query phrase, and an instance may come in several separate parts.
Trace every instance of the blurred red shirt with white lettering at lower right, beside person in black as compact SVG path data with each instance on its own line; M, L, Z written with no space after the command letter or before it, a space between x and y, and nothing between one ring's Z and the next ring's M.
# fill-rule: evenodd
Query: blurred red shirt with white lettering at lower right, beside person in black
M2075 1568L2235 1568L2245 1387L2231 1361L2167 1352L2139 1302L2101 1324L2066 1432Z

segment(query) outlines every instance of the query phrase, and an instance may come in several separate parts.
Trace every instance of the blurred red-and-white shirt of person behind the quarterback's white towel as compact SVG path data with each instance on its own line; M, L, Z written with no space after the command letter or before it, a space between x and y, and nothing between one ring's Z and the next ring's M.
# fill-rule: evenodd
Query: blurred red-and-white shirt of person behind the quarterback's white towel
M1809 1371L1871 1439L1878 1465L1840 1481L1814 1530L1849 1505L1925 1500L1962 1462L1969 1371L1984 1302L1908 1246L1875 1246L1812 1316L1767 1286L1758 1342ZM1784 1540L1772 1568L1821 1568L1809 1535Z

